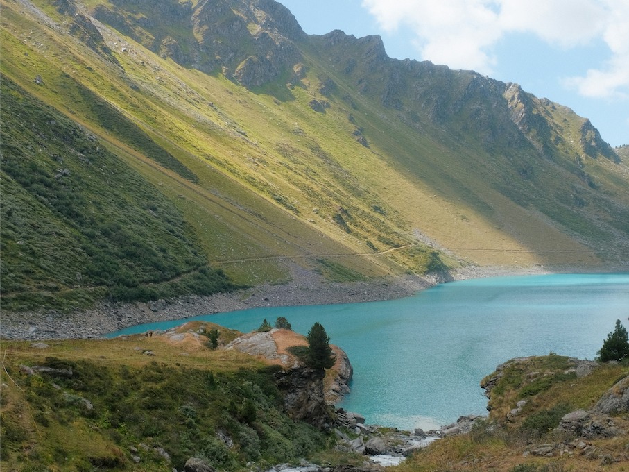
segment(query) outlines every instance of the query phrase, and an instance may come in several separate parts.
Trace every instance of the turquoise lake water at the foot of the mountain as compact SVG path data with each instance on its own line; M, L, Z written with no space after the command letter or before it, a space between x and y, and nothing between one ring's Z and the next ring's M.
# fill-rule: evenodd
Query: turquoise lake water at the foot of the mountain
M286 317L307 334L322 323L354 366L337 405L367 423L429 430L486 414L479 382L512 357L593 359L620 319L629 328L629 274L554 274L464 280L393 301L256 308L191 318L243 332ZM135 326L114 335L167 329Z

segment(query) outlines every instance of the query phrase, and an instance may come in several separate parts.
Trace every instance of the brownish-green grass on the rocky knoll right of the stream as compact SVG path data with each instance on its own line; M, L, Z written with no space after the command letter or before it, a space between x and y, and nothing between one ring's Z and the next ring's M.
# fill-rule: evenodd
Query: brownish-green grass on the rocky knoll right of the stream
M626 451L623 436L587 439L587 444L597 450L592 458L579 451L554 457L525 457L526 451L542 445L574 441L574 435L553 431L562 416L592 408L627 372L627 367L621 364L601 364L588 376L576 378L574 373L566 372L570 367L568 357L553 354L508 362L503 376L491 390L487 420L474 424L467 435L435 441L395 471L594 472L603 470L601 457L605 456L621 459L605 465L605 470L626 470L626 461L622 459ZM526 399L526 405L507 419L507 413L521 398ZM626 425L625 414L615 420Z

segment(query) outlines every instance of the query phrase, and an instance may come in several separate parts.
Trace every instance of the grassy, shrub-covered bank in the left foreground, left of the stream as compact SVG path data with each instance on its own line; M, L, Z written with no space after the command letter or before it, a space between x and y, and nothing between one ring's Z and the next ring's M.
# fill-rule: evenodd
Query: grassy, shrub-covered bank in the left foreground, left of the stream
M49 342L43 351L3 342L2 468L170 471L194 456L239 470L325 445L320 432L282 413L275 368L187 336ZM221 338L232 336L221 328ZM24 365L58 370L29 376Z

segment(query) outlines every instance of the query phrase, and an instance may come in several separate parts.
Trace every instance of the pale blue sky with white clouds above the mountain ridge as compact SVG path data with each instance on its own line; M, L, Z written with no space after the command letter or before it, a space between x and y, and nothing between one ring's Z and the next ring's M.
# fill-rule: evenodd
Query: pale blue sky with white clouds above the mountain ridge
M379 35L389 57L472 69L629 144L629 0L278 0L302 29Z

